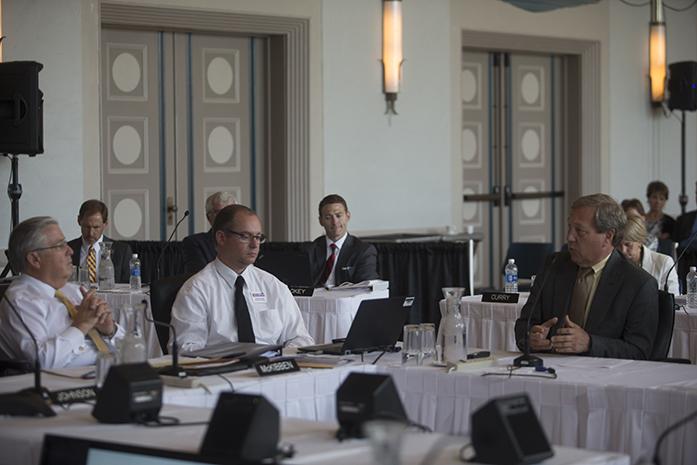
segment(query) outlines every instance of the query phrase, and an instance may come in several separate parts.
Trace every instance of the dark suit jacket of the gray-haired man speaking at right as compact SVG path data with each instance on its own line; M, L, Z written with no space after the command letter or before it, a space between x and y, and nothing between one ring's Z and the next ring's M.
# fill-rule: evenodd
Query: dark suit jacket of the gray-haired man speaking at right
M532 308L533 296L540 292L534 288L516 320L516 342L521 350L525 345L530 312L533 312L531 326L555 316L562 320L568 312L578 266L571 261L568 252L558 255L552 265L551 257L547 260L542 276L549 272L549 277L537 305ZM535 285L538 283L535 281ZM656 280L618 251L613 251L588 310L584 329L590 335L590 348L585 355L647 360L651 356L657 325Z

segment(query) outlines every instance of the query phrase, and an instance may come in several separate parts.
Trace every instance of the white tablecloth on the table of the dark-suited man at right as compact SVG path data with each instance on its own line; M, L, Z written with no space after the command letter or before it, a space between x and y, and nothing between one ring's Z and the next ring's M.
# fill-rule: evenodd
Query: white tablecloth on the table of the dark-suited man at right
M394 377L410 418L435 431L468 434L470 415L486 401L527 392L552 443L626 453L632 462L650 457L659 434L697 410L694 365L561 355L544 360L558 379L482 376L500 367L446 374L403 368L392 356L378 369ZM662 448L663 463L696 464L695 438L694 421L676 431Z

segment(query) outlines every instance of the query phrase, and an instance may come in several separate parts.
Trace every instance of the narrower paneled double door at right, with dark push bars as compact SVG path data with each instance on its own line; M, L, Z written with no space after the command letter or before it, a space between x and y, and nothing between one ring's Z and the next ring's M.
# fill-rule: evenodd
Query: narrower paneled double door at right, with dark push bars
M475 285L500 287L511 242L554 242L562 214L561 58L464 50L463 224L484 233Z

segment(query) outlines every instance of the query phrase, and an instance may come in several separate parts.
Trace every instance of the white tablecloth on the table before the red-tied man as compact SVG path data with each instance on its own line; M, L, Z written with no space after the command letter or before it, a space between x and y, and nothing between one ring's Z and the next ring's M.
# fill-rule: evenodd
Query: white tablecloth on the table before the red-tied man
M312 297L296 297L310 336L317 344L346 337L361 301L389 297L384 291L327 291L315 289Z

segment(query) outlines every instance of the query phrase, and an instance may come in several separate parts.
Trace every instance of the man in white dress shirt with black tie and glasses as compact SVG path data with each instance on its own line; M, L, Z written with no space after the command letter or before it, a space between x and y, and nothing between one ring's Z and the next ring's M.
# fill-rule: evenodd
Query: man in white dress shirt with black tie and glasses
M253 265L265 240L256 213L243 205L225 207L215 218L213 235L216 259L184 283L172 306L180 348L313 344L288 287Z

